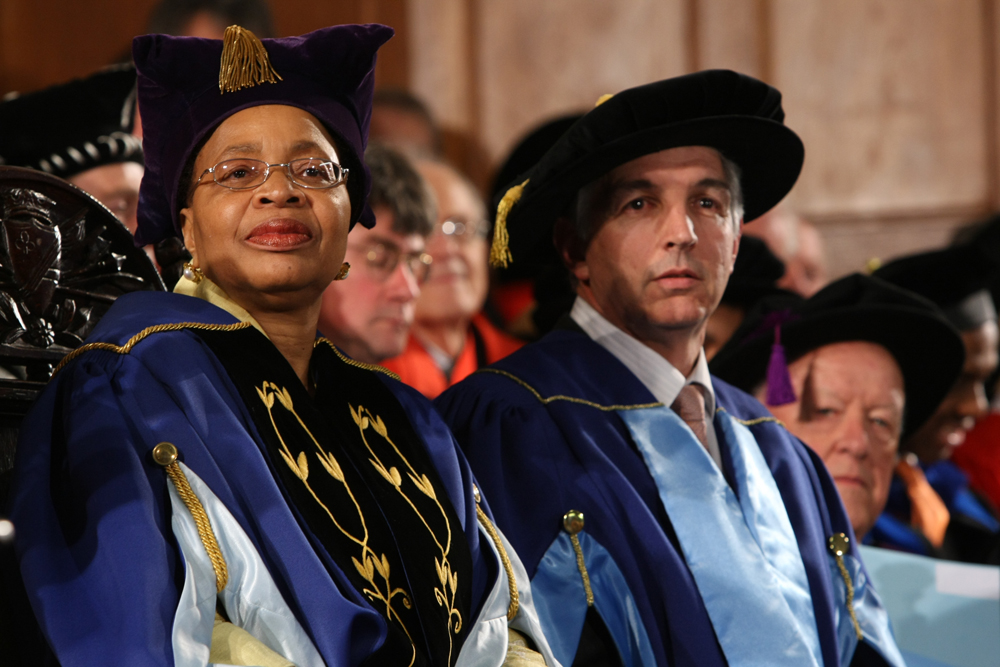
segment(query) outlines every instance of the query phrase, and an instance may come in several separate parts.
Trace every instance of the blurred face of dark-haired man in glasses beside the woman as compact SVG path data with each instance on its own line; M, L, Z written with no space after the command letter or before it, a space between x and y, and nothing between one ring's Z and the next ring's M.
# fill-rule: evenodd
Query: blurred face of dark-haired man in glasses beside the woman
M358 225L347 241L351 273L323 293L319 329L354 359L377 364L403 352L420 295L424 237L393 230L392 211L375 208L376 225ZM398 262L393 265L394 260Z

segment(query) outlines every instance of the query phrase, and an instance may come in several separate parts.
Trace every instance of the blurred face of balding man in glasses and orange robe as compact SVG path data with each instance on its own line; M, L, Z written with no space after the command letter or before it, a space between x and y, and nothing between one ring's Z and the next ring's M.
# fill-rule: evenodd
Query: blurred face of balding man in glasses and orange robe
M427 253L434 263L417 301L417 321L471 319L482 309L489 289L486 211L479 196L451 168L435 162L420 162L417 167L438 210L438 224L427 239Z

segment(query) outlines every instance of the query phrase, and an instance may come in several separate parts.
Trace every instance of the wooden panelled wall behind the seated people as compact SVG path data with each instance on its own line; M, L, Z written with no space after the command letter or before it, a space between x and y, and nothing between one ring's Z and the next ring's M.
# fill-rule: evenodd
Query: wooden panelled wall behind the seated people
M155 0L0 0L0 94L112 61ZM280 0L279 34L380 21L380 85L409 86L487 174L527 130L602 94L710 67L784 94L806 144L788 203L834 275L940 245L1000 207L1000 0ZM0 128L3 131L3 128ZM468 140L471 139L471 144ZM478 145L481 150L476 150ZM471 148L470 148L471 146ZM485 180L480 178L479 180Z

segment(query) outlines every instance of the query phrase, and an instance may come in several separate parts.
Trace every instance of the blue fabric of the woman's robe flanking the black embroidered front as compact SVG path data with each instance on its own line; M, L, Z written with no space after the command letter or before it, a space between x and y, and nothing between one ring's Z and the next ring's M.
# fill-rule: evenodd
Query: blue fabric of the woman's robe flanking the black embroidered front
M238 321L201 299L135 293L118 299L89 340L124 345L147 327L185 322ZM461 523L455 539L465 541L473 574L468 633L503 576L479 532L472 474L422 396L373 376L419 435ZM288 501L274 467L283 464L267 455L219 358L182 329L149 335L127 353L80 355L24 421L10 515L29 599L64 667L175 664L171 628L185 558L171 525L170 482L150 455L161 441L177 445L197 476L192 484L231 513L327 665L360 664L383 644L385 617ZM207 605L211 615L215 602ZM493 632L506 637L506 622Z

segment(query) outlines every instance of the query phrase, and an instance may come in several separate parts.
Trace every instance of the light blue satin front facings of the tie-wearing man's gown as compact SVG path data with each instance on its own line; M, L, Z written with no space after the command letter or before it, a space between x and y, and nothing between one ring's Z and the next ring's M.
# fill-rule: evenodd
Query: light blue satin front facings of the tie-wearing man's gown
M805 566L753 434L719 413L736 497L667 407L618 413L642 452L730 665L821 665Z

